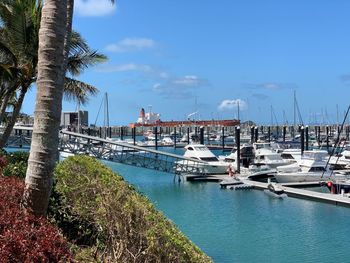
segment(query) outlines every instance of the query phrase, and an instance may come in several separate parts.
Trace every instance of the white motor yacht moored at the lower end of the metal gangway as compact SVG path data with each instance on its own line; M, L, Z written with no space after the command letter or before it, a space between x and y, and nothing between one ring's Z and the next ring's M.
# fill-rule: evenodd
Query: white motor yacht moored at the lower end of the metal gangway
M193 162L193 164L199 165L203 174L225 174L227 175L227 169L229 163L220 161L205 145L202 144L189 144L185 146L186 152L184 157L192 158L202 161L200 164ZM179 161L183 164L191 165L191 162L183 160Z

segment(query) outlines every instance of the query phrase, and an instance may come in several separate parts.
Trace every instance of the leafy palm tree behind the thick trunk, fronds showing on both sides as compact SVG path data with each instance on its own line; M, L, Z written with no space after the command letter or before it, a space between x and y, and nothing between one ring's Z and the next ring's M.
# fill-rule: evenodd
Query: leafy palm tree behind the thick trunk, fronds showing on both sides
M6 123L5 130L0 138L0 148L5 146L19 115L24 96L37 78L36 63L38 61L38 30L41 8L40 2L37 3L32 0L0 3L0 20L4 24L0 31L3 36L3 39L0 40L0 66L7 66L3 66L2 71L5 73L7 72L5 69L9 67L8 65L15 67L18 72L12 78L12 88L5 89L6 92L4 92L2 97L0 122L5 116L8 99L16 92L18 99L13 106L11 118ZM90 50L85 40L77 32L72 34L68 52L68 72L72 76L77 76L86 67L106 59L104 55ZM76 99L80 104L86 102L89 95L97 93L97 89L93 86L75 79L69 78L66 84L64 89L68 94L66 97Z

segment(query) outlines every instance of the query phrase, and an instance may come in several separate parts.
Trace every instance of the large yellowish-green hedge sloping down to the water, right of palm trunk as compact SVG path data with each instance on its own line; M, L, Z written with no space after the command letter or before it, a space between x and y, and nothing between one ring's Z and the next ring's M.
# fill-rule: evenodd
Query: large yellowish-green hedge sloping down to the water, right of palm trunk
M80 250L78 260L211 262L146 197L97 160L69 157L55 175L63 210L95 229L93 246Z

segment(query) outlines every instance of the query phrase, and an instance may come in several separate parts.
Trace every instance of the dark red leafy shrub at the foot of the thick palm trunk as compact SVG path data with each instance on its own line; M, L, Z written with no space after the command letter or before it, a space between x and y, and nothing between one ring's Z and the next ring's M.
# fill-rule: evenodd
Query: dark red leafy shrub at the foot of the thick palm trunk
M18 178L0 176L1 262L73 262L56 227L21 211L23 189Z

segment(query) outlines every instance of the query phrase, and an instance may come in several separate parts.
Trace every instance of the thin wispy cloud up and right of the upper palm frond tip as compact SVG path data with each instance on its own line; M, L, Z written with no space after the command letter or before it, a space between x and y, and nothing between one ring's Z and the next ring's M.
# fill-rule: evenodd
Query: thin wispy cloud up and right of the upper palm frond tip
M156 42L149 38L124 38L117 43L109 44L105 49L115 53L135 52L152 49Z

